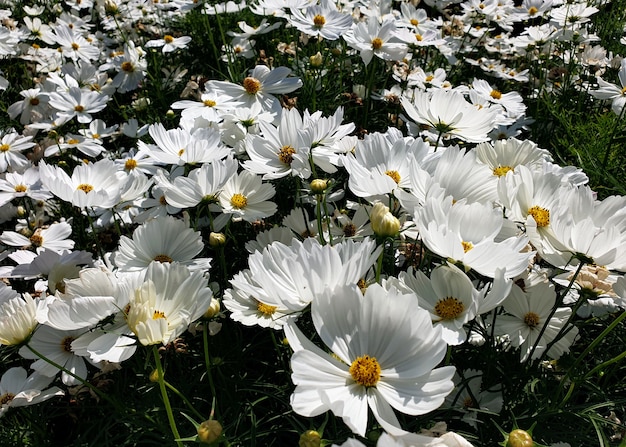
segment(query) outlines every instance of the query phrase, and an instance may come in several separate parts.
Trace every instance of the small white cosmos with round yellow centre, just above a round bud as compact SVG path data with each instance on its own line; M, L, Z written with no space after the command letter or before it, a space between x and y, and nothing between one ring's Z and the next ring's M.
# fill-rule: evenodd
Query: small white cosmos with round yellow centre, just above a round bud
M274 194L274 187L263 183L260 176L250 171L242 171L224 184L219 201L224 213L253 222L276 212L276 204L268 200Z

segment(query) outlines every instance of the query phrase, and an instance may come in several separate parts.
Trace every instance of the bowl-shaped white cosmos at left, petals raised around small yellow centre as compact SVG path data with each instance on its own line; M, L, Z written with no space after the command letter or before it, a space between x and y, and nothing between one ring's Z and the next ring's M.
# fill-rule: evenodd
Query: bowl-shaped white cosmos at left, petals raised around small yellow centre
M121 188L126 174L115 163L102 159L95 163L83 163L68 176L58 166L39 164L41 183L61 200L79 208L111 208L121 198Z

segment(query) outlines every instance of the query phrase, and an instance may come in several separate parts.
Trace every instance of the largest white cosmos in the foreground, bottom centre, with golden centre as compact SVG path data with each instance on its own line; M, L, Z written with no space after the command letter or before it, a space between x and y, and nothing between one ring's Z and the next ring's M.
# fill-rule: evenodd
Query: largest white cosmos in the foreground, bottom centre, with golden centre
M294 411L313 417L331 410L365 435L368 408L389 433L406 432L393 411L419 415L438 408L454 385L454 367L435 367L446 344L415 294L378 284L327 288L311 307L315 329L333 355L295 324L285 333L294 349Z

